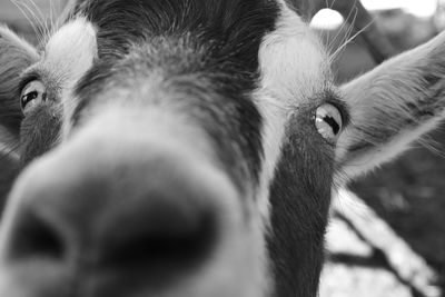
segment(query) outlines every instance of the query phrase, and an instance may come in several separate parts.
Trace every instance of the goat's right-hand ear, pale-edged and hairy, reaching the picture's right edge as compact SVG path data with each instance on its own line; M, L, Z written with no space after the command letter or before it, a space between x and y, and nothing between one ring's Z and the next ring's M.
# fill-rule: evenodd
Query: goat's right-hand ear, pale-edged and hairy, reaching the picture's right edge
M389 161L445 118L445 33L343 86L350 123L337 142L337 180Z

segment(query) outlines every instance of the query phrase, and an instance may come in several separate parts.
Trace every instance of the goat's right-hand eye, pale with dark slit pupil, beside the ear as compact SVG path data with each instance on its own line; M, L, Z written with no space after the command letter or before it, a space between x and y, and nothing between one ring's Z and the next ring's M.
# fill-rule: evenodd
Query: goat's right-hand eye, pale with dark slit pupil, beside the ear
M343 128L342 113L333 105L326 103L315 112L315 127L329 142L336 142Z

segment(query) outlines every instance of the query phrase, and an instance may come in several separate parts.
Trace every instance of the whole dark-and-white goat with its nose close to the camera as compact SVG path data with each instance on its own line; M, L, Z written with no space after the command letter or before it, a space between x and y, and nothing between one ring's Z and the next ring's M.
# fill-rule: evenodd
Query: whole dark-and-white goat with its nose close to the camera
M333 186L444 117L445 34L337 87L300 1L71 2L0 29L0 296L317 296Z

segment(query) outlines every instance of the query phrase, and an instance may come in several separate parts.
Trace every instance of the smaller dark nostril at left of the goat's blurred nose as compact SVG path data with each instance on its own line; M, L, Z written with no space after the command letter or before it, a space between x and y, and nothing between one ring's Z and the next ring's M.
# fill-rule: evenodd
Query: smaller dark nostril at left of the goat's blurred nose
M11 259L50 258L60 260L65 257L61 235L55 226L34 214L22 214L16 225L10 246Z

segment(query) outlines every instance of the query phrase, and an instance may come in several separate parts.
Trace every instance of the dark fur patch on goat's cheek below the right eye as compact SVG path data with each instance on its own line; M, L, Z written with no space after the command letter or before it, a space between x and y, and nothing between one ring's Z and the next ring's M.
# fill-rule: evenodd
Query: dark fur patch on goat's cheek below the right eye
M314 128L313 110L319 101L325 98L290 119L271 186L268 248L277 297L318 291L334 172L334 149Z

